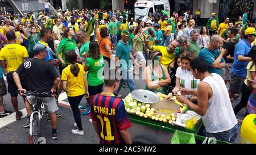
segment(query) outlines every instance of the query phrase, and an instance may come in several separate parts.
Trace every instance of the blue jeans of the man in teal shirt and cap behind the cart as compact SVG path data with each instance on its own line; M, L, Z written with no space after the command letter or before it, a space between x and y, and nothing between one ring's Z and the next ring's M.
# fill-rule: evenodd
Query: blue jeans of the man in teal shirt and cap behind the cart
M122 79L120 81L118 90L114 94L119 93L119 91L121 90L121 88L123 86L124 81L126 81L126 83L129 86L129 89L130 89L131 92L136 90L136 86L135 86L134 81L133 81L133 76L129 73L129 69L122 70L120 75L122 76Z

